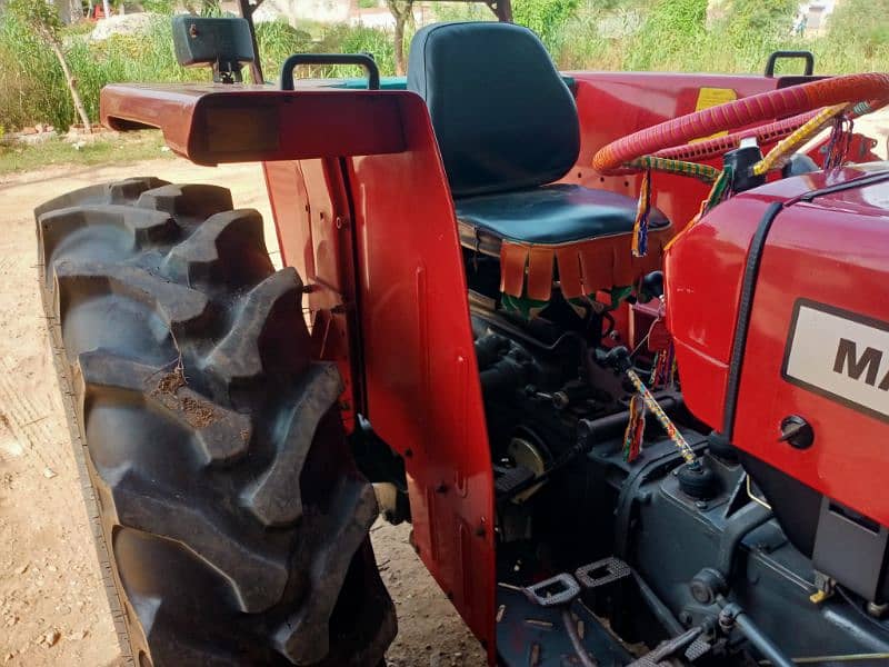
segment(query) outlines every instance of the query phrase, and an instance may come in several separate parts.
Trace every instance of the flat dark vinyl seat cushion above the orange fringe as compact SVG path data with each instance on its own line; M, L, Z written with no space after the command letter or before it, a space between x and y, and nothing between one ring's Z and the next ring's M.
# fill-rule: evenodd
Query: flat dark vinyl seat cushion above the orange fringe
M493 239L535 246L555 246L630 233L637 202L625 195L557 183L459 199L455 202L460 236L466 245ZM667 227L658 209L651 210L649 229ZM469 237L469 238L467 238ZM486 239L485 237L493 237ZM489 248L491 253L499 252Z

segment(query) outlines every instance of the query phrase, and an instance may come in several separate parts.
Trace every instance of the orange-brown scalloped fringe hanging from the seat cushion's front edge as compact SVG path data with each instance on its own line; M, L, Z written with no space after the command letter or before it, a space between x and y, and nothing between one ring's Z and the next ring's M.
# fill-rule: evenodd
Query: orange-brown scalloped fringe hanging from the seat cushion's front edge
M549 301L556 269L566 299L593 295L616 285L635 285L660 268L672 227L648 230L648 253L633 257L631 233L599 237L562 246L533 246L505 240L500 246L500 291Z

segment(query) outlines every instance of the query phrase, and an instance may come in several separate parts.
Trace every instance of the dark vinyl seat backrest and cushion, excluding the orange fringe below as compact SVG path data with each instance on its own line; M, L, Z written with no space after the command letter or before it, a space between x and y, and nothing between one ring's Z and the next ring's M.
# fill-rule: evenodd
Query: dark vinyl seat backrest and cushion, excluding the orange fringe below
M429 107L462 228L543 245L632 231L633 199L548 186L577 162L580 123L573 94L527 28L421 29L410 49L408 89ZM667 225L652 211L652 228Z

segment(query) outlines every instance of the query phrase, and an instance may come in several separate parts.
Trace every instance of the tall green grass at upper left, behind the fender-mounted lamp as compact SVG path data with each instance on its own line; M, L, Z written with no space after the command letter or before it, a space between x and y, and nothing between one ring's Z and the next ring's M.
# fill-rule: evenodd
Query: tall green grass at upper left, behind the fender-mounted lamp
M266 77L274 81L291 53L373 53L383 74L394 71L390 32L362 26L284 22L257 26ZM311 31L311 32L310 32ZM142 33L116 34L92 41L82 24L62 36L68 63L91 119L99 116L99 93L108 83L177 83L210 81L204 68L179 66L173 52L170 17L156 16ZM310 68L303 68L309 70ZM311 68L299 76L359 76L359 68ZM59 63L27 26L0 12L0 125L8 131L37 122L66 129L76 122L74 109Z

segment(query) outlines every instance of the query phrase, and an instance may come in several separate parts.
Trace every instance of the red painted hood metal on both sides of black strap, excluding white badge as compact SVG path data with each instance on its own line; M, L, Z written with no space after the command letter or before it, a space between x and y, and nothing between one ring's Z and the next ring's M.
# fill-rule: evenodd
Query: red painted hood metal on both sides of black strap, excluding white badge
M668 316L682 391L691 411L711 426L722 425L741 277L766 208L865 173L817 172L737 196L669 250ZM889 424L791 384L781 370L800 298L889 321L887 208L883 181L793 203L775 219L751 309L733 435L740 448L883 525L889 497L880 472ZM815 429L809 449L778 441L781 419L795 414Z

